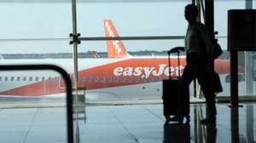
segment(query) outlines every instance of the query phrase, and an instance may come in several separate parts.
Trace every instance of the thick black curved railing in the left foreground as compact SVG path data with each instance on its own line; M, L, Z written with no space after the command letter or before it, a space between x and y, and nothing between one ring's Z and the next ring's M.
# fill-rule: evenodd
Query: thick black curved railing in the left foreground
M38 71L53 70L59 72L66 83L67 94L67 142L74 143L73 137L73 97L71 79L61 67L54 65L8 65L0 66L0 71Z

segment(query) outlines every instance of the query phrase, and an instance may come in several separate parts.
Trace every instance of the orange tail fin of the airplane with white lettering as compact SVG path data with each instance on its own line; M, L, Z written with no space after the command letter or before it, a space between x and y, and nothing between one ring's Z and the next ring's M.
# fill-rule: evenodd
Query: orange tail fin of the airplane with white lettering
M104 30L106 37L119 37L111 20L104 20ZM126 58L128 53L121 40L107 41L108 58Z

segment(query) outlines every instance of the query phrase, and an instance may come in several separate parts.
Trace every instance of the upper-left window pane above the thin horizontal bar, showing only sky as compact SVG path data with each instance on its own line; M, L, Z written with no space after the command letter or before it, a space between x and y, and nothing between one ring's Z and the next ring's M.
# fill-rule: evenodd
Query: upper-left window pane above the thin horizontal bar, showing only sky
M72 31L71 3L1 3L1 39L67 38Z

